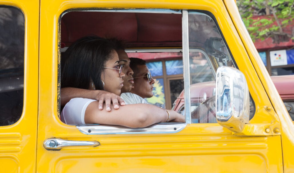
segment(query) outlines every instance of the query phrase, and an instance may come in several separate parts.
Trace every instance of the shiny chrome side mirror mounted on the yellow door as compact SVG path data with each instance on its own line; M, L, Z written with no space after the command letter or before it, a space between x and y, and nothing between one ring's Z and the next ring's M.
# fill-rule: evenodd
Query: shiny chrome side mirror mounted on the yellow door
M249 90L240 70L222 66L216 71L216 121L233 132L249 123Z

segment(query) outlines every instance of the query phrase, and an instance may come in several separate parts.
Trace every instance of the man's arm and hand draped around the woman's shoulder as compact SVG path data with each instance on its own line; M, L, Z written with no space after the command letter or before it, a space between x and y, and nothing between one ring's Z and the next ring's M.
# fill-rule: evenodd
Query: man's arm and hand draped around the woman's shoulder
M105 102L106 111L111 111L111 108L118 109L119 104L121 106L125 105L123 99L120 96L102 90L89 90L89 89L80 89L80 88L71 88L65 87L61 88L61 106L66 105L70 99L73 98L87 98L87 99L94 99L98 101L98 108L100 110L103 109L103 103ZM111 102L113 106L111 105Z

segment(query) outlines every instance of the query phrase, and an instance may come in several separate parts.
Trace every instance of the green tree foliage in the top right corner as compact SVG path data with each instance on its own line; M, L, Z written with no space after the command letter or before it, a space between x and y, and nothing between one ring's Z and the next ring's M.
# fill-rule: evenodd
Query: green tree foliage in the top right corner
M237 6L252 40L271 37L275 43L294 38L292 32L285 33L286 26L294 26L293 5L294 0L237 0ZM254 17L257 15L260 17Z

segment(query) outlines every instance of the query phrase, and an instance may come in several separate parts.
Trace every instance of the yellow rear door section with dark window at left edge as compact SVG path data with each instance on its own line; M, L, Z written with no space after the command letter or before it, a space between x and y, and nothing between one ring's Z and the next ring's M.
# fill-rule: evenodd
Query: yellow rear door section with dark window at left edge
M39 1L0 1L0 8L1 24L9 27L1 28L1 55L6 59L1 59L0 100L6 104L0 114L6 119L0 126L0 172L31 173L36 171ZM8 50L3 52L4 47Z

